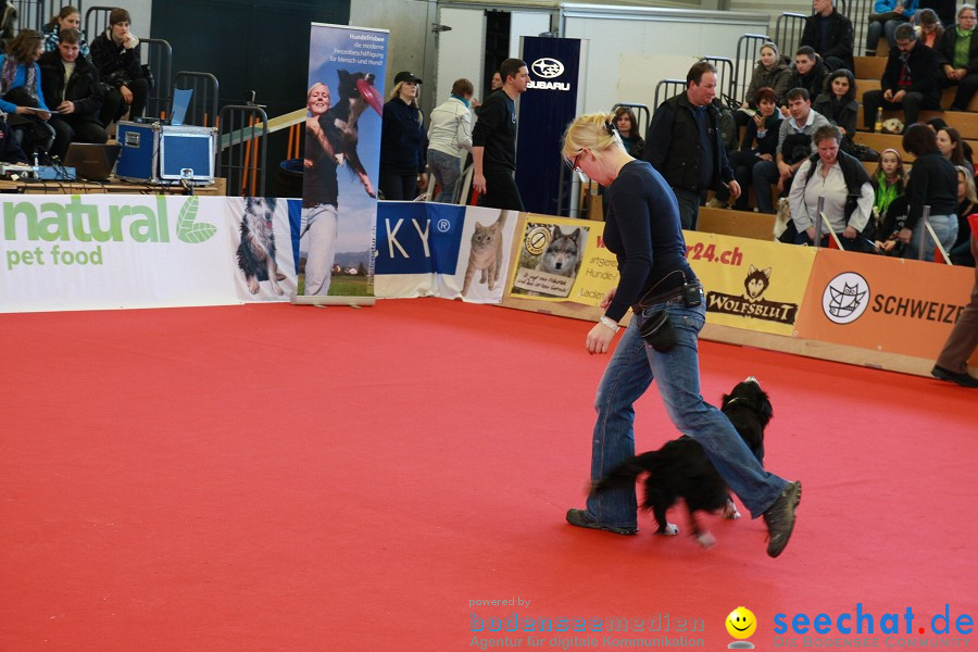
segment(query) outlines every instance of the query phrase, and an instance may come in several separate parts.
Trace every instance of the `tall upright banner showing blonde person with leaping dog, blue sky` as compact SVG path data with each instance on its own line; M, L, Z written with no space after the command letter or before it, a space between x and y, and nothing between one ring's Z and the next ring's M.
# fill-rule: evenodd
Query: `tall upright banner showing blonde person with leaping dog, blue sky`
M314 23L310 33L299 288L374 294L374 226L388 32ZM355 269L355 274L334 274Z

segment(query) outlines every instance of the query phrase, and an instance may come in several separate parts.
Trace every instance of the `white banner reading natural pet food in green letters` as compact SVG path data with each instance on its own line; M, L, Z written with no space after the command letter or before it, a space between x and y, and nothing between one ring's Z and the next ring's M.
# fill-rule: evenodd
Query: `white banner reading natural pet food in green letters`
M226 198L0 200L0 312L237 303Z

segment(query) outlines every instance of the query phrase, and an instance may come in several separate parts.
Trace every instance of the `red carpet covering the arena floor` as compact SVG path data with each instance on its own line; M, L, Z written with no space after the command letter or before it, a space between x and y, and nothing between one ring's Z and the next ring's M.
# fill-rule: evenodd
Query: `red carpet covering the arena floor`
M469 650L504 640L473 641L473 622L514 612L627 618L615 640L667 624L718 650L740 604L770 650L776 614L835 623L857 603L880 647L907 607L901 636L939 641L945 605L943 639L976 644L953 629L978 620L974 391L703 342L704 396L760 378L765 462L804 482L770 560L762 521L711 519L706 551L645 515L632 538L564 523L607 361L582 322L432 299L0 323L3 651ZM639 448L676 436L653 387ZM511 598L529 604L471 605ZM554 636L509 638L619 647Z

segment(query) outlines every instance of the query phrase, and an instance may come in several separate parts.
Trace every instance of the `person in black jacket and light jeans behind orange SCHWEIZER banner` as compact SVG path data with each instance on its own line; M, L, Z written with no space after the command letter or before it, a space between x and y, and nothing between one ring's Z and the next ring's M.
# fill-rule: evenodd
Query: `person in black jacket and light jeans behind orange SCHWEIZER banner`
M899 36L898 36L899 40ZM924 206L930 206L930 226L944 251L957 240L957 171L937 146L937 136L926 125L914 124L903 135L903 150L916 156L906 183L908 203L906 221L896 238L906 247L903 258L917 259L924 242L921 260L932 261L933 238L925 233Z

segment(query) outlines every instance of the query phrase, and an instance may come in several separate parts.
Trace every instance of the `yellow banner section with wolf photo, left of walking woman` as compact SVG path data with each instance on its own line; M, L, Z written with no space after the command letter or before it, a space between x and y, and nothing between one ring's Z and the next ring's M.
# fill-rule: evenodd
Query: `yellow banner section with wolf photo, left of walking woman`
M603 234L602 222L527 214L509 296L599 305L618 285Z

